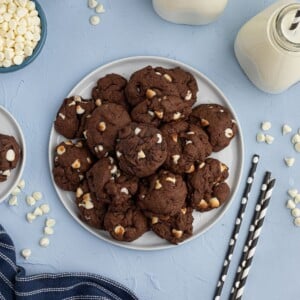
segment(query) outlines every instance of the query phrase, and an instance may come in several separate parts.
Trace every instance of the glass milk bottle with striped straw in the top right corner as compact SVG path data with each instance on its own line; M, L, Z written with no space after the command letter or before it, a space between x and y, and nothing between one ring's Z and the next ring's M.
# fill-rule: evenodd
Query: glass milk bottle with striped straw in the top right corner
M300 80L300 3L281 0L248 21L235 41L235 54L261 90L281 93Z

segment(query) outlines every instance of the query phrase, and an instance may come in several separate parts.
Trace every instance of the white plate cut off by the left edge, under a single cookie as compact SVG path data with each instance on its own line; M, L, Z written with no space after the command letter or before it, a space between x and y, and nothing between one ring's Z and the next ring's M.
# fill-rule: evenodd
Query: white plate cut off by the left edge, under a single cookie
M11 171L11 175L4 182L0 182L0 203L11 193L18 184L23 174L26 161L26 145L22 130L16 119L2 106L0 106L0 133L12 135L19 143L22 154L17 167Z

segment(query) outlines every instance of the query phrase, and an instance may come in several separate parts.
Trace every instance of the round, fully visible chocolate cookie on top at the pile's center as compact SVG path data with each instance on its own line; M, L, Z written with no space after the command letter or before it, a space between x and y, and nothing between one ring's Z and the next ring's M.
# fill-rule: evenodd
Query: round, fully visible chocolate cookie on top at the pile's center
M146 177L166 160L167 145L157 128L131 123L119 131L116 155L125 173Z

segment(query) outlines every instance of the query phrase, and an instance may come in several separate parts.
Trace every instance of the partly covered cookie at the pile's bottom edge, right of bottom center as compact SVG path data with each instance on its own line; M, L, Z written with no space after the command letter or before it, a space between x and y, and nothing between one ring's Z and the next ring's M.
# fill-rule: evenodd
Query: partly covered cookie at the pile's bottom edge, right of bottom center
M151 228L161 238L172 244L178 244L191 237L193 234L193 209L182 208L173 217L152 217Z

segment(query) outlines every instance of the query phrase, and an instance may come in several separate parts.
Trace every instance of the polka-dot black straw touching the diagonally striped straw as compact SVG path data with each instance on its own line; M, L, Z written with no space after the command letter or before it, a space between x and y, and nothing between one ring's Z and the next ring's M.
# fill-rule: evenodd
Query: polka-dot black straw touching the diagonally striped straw
M234 279L234 282L233 282L233 285L232 285L231 296L230 296L231 300L235 299L237 289L240 286L240 281L242 279L244 264L245 264L245 261L246 261L247 256L248 256L249 247L251 246L251 242L254 238L254 233L255 233L254 229L256 227L257 220L259 219L261 209L262 209L262 205L266 200L267 187L268 187L268 183L270 181L270 178L271 178L271 173L266 172L265 176L263 178L261 188L260 188L260 194L259 194L258 199L257 199L257 203L256 203L256 207L255 207L255 213L253 214L253 217L252 217L252 221L251 221L251 225L250 225L250 228L249 228L249 231L248 231L248 236L247 236L246 243L245 243L245 246L244 246L244 249L243 249L243 253L242 253L242 256L241 256L241 259L240 259L240 262L239 262L239 266L238 266L238 269L237 269L237 272L236 272L236 275L235 275L235 279Z

